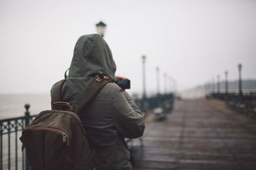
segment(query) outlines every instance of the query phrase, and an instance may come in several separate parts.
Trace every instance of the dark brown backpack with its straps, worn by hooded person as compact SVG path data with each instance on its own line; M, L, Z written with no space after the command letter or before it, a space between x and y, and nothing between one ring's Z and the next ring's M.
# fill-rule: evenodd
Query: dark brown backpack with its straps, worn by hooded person
M23 143L22 150L26 147L29 166L31 170L109 169L117 140L103 167L90 148L83 124L76 113L112 81L100 72L71 106L61 101L61 89L66 79L65 73L65 79L55 83L52 88L52 110L40 112L22 131L20 141Z

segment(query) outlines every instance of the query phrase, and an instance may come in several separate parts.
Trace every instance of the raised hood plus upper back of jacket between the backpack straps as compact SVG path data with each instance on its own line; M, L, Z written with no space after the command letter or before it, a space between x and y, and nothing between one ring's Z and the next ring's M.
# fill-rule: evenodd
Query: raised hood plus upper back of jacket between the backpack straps
M81 36L74 49L68 77L61 91L61 100L74 103L99 71L116 81L116 64L108 44L99 34Z

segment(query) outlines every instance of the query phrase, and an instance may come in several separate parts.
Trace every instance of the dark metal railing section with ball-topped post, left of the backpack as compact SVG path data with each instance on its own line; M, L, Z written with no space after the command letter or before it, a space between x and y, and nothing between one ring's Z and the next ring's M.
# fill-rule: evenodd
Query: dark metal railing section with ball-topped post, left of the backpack
M0 169L29 169L26 153L21 152L18 133L32 122L36 115L29 114L29 104L25 105L24 117L0 120ZM19 133L20 134L20 133ZM13 139L14 138L14 139ZM3 142L4 140L7 143ZM14 144L14 146L13 146ZM19 145L18 145L19 144ZM13 148L14 147L14 148ZM19 148L20 147L20 148ZM14 152L14 153L12 153ZM14 160L14 161L13 161ZM14 163L14 165L13 165Z

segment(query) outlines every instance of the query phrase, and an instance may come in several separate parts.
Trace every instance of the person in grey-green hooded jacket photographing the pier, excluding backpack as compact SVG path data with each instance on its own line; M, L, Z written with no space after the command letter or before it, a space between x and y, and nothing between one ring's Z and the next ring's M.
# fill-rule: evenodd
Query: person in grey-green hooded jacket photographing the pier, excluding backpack
M106 41L99 34L81 36L61 90L61 101L74 103L99 71L114 82L122 79L115 77L116 64ZM124 138L142 136L145 123L129 94L116 83L107 83L79 115L88 142L102 163L106 166L116 145L110 169L132 169L131 153Z

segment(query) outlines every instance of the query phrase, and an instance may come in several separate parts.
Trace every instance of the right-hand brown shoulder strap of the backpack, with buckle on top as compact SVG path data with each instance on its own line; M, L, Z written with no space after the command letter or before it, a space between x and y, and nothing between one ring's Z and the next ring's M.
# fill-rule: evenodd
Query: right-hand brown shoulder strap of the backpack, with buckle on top
M77 97L76 101L72 104L73 112L79 115L79 111L81 111L81 109L100 92L104 85L110 82L113 81L108 76L104 76L101 72L99 72L99 74L93 78L83 93Z

